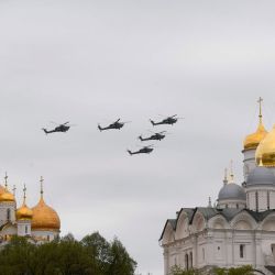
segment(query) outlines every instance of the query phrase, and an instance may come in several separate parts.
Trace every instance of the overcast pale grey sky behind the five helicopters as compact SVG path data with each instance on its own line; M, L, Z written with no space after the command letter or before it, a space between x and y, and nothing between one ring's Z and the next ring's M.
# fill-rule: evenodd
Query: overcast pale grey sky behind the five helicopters
M62 233L123 242L163 274L158 238L180 207L206 206L242 141L275 123L275 2L0 0L0 175L45 199ZM151 155L130 157L148 118L185 117ZM130 120L100 133L97 123ZM50 121L77 124L45 136ZM19 191L20 190L20 191Z

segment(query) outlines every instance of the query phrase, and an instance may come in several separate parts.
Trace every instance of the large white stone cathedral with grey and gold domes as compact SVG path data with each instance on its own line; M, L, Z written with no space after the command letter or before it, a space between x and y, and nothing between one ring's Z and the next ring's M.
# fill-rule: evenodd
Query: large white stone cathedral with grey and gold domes
M275 274L275 127L265 130L258 103L257 129L243 142L243 183L231 169L215 206L182 208L166 221L165 275L175 265L202 272L252 265L256 274Z

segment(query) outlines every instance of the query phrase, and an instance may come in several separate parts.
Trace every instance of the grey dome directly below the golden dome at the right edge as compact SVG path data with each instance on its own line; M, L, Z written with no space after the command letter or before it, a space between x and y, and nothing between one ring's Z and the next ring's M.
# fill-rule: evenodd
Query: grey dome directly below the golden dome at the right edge
M275 185L275 176L271 169L257 166L249 174L246 185Z

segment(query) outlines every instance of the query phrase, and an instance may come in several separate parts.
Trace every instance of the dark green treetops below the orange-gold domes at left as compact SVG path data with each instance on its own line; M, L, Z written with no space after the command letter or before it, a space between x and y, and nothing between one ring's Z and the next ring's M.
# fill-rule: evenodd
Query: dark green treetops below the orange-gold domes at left
M14 237L0 250L0 275L133 275L136 263L117 238L95 232L40 245Z

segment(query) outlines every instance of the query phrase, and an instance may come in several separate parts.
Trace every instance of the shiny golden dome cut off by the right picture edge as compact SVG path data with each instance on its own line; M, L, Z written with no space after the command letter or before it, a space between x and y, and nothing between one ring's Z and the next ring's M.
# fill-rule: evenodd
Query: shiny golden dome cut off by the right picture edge
M255 158L258 166L275 167L275 125L257 146Z

